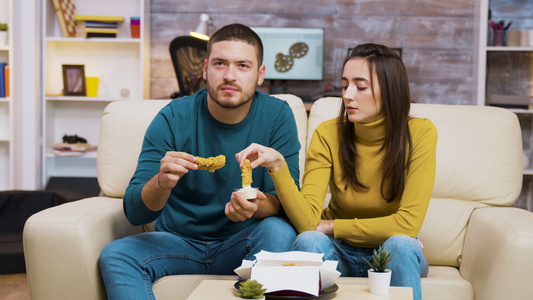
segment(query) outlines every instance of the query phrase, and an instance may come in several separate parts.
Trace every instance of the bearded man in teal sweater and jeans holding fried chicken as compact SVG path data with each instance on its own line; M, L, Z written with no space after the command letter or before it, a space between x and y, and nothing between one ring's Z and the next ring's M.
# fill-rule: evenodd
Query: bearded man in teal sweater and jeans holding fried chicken
M253 171L257 199L246 200L235 154L251 143L280 151L298 182L298 143L292 111L256 91L264 80L263 45L241 24L211 38L203 77L207 90L176 99L149 126L138 166L124 196L133 225L156 231L110 243L100 255L109 299L153 299L152 282L174 274L234 274L260 250L288 251L294 229L277 217L280 204L264 168ZM223 154L214 172L196 156Z

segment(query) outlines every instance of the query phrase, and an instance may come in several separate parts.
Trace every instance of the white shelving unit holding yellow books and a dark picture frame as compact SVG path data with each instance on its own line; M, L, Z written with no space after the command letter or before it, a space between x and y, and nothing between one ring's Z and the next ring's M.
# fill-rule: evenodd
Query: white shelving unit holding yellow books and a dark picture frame
M79 15L122 16L116 38L63 37L51 0L42 0L42 184L50 177L96 177L96 152L59 156L52 145L78 135L97 145L100 119L112 101L150 97L150 0L75 0ZM131 38L130 17L141 18L140 38ZM99 77L98 97L61 96L63 64L84 65ZM121 96L127 90L128 96Z

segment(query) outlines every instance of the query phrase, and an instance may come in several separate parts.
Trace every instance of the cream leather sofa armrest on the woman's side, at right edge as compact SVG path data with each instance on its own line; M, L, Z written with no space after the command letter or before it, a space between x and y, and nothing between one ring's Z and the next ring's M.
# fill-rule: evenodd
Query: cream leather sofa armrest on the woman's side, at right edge
M461 266L476 299L533 295L533 213L514 207L476 209L467 227Z

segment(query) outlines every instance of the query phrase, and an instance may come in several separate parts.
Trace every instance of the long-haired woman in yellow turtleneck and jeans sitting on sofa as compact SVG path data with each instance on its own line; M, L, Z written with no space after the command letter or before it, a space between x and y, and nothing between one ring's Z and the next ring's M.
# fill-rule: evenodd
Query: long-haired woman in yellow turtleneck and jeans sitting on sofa
M405 66L391 49L355 47L342 72L339 117L320 124L305 161L301 191L277 151L252 144L242 164L269 168L278 197L300 233L293 250L324 253L342 276L367 276L372 251L393 251L391 285L413 287L428 263L417 240L435 179L437 130L409 117ZM331 200L322 209L328 185Z

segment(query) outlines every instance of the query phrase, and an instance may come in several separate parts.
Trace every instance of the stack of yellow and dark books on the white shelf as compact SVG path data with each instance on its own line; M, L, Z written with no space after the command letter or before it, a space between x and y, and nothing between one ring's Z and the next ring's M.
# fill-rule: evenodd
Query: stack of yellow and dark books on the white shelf
M76 15L76 36L83 38L115 38L118 25L124 21L120 16Z

